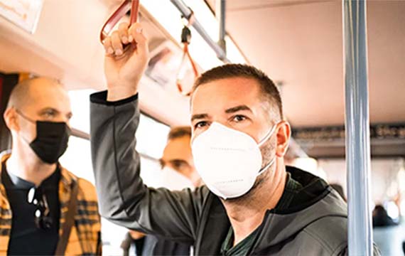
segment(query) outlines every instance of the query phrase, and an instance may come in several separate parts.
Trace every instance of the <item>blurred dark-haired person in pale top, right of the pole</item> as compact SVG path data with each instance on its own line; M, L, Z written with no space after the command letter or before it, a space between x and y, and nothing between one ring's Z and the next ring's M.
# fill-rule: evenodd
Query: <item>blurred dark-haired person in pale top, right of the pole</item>
M374 242L382 255L404 256L402 252L403 233L397 223L389 217L384 206L377 205L372 211Z

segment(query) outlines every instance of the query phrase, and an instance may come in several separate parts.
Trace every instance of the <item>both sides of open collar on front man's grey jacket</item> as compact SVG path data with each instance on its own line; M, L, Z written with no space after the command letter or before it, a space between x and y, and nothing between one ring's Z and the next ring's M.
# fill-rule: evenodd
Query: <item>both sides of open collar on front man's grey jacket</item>
M288 210L267 210L249 254L261 252L286 241L311 223L327 216L347 217L344 201L322 178L291 166L286 166L286 171L304 186L303 191L313 194L306 202ZM195 251L199 255L215 255L220 252L229 230L229 218L220 198L213 193L207 197L204 208Z

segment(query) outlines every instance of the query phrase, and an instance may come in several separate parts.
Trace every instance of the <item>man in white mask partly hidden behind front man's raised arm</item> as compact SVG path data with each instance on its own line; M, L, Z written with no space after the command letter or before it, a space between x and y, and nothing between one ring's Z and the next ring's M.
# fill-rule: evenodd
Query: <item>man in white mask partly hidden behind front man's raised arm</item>
M173 127L161 162L161 186L170 190L194 189L202 185L195 170L190 147L191 128ZM124 256L129 255L190 255L190 245L171 242L153 235L129 230L121 243Z

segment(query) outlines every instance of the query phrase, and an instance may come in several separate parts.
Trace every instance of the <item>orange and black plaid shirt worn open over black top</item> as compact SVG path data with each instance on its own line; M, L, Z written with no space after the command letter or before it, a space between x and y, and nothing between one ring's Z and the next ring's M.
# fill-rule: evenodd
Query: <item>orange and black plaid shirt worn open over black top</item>
M1 156L0 174L2 164L9 159L10 154ZM70 171L60 166L59 200L60 200L60 229L59 237L63 233L63 223L71 194L72 181L77 181L77 210L75 213L75 226L72 227L65 255L101 255L101 225L97 207L95 187L82 178L77 178ZM11 234L11 207L6 195L6 188L1 182L0 175L0 256L7 255Z

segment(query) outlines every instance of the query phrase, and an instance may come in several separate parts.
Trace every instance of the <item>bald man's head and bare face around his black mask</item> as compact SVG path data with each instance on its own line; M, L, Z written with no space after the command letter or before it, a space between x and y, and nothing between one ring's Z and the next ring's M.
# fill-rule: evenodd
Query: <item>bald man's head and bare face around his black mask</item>
M72 117L67 92L61 85L45 78L34 80L29 85L24 102L5 113L6 123L13 137L32 142L36 138L36 123L21 117L18 112L32 121L65 122L68 126Z

